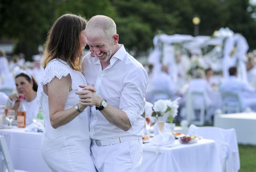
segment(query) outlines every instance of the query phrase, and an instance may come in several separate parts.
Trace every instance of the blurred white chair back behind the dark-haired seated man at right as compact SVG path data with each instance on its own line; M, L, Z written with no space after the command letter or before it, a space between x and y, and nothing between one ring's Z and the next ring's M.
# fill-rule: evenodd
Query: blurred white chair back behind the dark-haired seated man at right
M242 102L240 96L236 93L221 93L223 113L242 112Z

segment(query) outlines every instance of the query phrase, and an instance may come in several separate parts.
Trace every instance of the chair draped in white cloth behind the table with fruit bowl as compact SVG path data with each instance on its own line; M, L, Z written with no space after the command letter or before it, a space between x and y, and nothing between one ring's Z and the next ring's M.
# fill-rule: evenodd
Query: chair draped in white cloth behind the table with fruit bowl
M196 127L191 124L188 135L202 136L215 141L223 172L238 172L240 169L239 151L235 130L218 127Z

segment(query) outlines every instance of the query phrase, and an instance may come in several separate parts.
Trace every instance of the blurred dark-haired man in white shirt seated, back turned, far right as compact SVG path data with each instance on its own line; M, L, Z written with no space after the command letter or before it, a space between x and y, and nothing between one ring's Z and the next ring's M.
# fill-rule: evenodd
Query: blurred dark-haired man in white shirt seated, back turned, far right
M223 81L220 85L221 94L232 92L238 94L241 99L242 108L251 107L253 110L256 110L256 99L255 99L255 89L248 84L238 80L237 78L237 68L230 67L229 68L229 77ZM251 97L245 97L245 94L250 94ZM224 101L227 104L233 104L233 99L225 99Z

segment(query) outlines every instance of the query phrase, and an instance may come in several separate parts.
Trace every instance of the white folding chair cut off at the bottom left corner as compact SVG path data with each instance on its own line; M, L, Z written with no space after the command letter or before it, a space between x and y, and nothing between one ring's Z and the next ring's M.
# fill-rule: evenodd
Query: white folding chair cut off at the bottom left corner
M14 170L6 140L0 136L0 172L26 172Z

